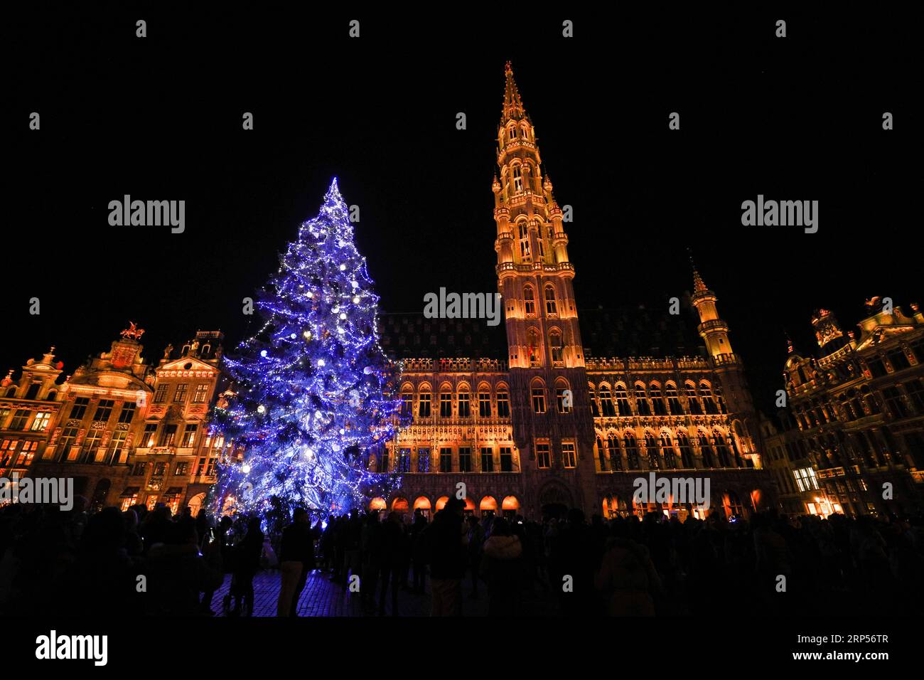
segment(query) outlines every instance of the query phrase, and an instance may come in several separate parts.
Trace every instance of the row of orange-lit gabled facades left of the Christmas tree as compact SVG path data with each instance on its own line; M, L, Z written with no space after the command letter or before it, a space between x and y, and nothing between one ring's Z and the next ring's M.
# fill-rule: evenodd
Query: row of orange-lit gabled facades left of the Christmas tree
M0 383L0 476L73 477L92 510L163 502L199 512L218 458L233 448L207 425L224 385L223 336L199 331L152 367L143 332L122 331L61 384L54 348L23 366L18 382L10 372Z

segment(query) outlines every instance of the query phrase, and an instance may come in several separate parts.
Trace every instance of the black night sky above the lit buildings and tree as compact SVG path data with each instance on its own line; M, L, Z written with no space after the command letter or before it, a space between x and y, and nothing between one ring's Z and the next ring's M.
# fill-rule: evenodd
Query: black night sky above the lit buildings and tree
M872 295L924 303L909 105L920 83L901 17L497 16L513 11L11 21L0 368L55 344L72 373L129 319L155 362L199 328L224 330L231 350L249 323L241 299L334 176L360 207L383 311L422 311L440 287L496 291L507 59L555 197L574 207L580 308L666 308L691 289L691 247L765 404L781 387L784 329L817 349L813 309L847 329ZM42 130L28 130L31 111ZM895 130L881 130L883 111ZM186 200L186 232L110 227L107 204L126 193ZM742 227L741 202L759 193L818 200L819 232Z

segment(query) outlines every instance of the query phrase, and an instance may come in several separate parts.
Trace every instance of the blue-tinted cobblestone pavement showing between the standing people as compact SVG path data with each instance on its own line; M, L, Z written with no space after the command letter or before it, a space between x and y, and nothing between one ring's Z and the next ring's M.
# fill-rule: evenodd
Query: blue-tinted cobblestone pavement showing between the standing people
M281 579L275 569L264 571L253 579L253 615L275 616L276 602L279 599ZM212 600L212 609L216 615L222 613L222 600L231 585L231 576L225 575L222 586L215 591ZM430 615L430 580L427 580L427 592L423 595L402 590L398 593L398 616L429 616ZM479 598L471 598L471 579L462 582L462 613L465 616L486 616L488 613L488 594L484 584L480 584ZM378 595L378 592L376 593ZM330 580L330 575L315 570L308 577L305 589L298 600L299 616L368 616L375 613L364 613L359 593L351 593L340 584ZM385 615L392 615L391 594L385 605ZM523 613L533 615L549 615L553 607L547 597L524 599Z

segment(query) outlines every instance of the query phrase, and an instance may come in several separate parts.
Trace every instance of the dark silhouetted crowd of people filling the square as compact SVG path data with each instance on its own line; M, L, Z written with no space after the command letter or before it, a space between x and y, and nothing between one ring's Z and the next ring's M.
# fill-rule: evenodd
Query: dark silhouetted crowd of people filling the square
M247 616L255 575L276 569L279 616L298 615L312 574L369 615L428 595L434 616L483 612L467 604L480 599L490 615L911 614L924 604L924 518L588 521L572 509L532 521L466 515L451 499L432 520L297 508L277 536L259 517L164 505L0 508L0 614Z

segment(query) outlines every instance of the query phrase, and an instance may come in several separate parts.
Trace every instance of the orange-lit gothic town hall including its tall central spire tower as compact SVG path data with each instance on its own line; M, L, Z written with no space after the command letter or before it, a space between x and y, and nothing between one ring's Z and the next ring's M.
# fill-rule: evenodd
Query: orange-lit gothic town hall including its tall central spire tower
M564 211L509 64L497 165L505 351L491 355L483 320L383 315L383 347L403 361L399 391L413 422L372 463L401 472L403 487L371 507L431 512L464 490L474 513L641 513L656 508L633 504L633 480L649 471L709 476L711 510L764 507L772 482L760 469L759 419L717 297L699 273L689 300L699 341L686 340L669 315L578 318ZM638 339L644 328L657 337ZM598 357L585 333L591 343L644 353ZM660 509L703 513L673 499Z

